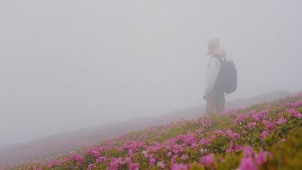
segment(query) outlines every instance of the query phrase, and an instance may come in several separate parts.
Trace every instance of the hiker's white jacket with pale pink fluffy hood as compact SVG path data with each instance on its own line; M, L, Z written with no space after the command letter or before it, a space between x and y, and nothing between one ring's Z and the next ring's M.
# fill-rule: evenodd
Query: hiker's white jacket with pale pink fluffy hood
M226 56L226 50L223 47L214 49L213 53L216 55L219 55L220 58L224 61L224 57ZM204 96L207 96L213 90L214 85L215 85L218 75L219 75L220 68L221 68L220 61L215 57L211 58L207 65Z

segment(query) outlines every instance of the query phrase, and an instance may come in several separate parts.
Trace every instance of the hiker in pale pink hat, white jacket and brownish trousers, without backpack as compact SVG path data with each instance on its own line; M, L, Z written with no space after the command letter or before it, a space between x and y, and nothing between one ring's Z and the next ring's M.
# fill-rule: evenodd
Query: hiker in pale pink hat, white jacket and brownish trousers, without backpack
M223 91L215 87L215 83L219 76L219 70L221 63L214 55L218 55L223 61L226 56L224 47L220 47L219 38L212 38L208 41L207 46L209 52L208 56L211 56L210 61L207 65L207 72L205 77L205 87L203 99L207 100L206 116L212 113L222 113L224 107L224 93Z

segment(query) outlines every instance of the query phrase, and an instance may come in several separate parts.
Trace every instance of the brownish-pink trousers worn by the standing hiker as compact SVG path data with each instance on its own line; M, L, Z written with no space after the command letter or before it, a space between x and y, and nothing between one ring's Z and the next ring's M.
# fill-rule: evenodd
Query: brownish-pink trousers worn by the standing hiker
M207 112L206 116L211 113L222 113L223 112L223 96L224 93L217 90L216 87L207 96Z

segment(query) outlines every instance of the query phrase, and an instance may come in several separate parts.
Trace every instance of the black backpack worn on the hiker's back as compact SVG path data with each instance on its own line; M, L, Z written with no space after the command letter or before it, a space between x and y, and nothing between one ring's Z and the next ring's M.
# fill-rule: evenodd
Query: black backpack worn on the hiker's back
M225 95L234 92L237 88L236 64L233 60L227 61L226 57L224 57L224 61L218 55L213 57L217 58L222 64L215 87L226 93Z

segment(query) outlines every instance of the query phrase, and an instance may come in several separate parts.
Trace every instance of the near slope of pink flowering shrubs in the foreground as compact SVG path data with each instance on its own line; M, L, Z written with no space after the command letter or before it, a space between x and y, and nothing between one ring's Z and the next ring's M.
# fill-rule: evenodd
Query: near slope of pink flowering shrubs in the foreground
M302 92L131 131L16 170L302 169Z

